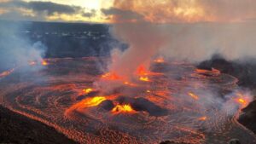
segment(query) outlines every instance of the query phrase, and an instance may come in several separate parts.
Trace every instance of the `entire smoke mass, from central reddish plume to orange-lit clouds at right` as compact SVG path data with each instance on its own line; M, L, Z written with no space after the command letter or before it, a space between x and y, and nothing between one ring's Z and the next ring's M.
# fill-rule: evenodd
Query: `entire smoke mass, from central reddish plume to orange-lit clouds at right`
M102 13L113 20L113 36L130 48L110 71L131 77L137 66L159 53L192 62L216 53L229 60L255 56L255 6L249 0L115 1Z

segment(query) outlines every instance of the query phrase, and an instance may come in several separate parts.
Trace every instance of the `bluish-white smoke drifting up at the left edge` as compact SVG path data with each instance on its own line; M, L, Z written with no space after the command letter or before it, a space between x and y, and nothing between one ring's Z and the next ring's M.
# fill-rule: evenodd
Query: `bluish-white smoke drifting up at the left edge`
M17 66L28 66L30 61L41 62L46 47L32 43L19 22L0 21L0 68L1 71Z

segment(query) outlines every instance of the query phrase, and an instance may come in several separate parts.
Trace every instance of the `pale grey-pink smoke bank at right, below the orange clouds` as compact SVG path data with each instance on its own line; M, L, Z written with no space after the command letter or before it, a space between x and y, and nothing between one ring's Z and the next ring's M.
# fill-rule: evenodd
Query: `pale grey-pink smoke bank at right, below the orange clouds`
M172 25L166 29L169 40L161 54L176 60L200 62L214 54L227 60L256 56L254 22L197 23Z

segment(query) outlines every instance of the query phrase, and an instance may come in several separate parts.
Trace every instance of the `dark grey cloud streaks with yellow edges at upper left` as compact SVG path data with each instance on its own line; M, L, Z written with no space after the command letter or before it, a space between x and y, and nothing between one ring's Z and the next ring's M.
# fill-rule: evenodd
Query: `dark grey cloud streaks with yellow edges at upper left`
M67 4L0 0L0 19L4 20L58 20L77 21L96 17L96 10ZM79 20L80 21L80 20Z

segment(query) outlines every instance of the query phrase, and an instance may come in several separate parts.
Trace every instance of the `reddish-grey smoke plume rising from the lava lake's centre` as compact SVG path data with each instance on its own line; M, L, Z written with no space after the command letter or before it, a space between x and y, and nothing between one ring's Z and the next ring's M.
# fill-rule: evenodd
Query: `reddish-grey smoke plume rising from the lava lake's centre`
M164 41L162 26L149 23L120 24L113 28L114 36L129 43L130 48L114 60L110 69L122 77L131 77L139 65L148 66L149 60L160 49ZM122 68L121 68L122 67Z

